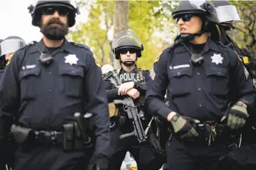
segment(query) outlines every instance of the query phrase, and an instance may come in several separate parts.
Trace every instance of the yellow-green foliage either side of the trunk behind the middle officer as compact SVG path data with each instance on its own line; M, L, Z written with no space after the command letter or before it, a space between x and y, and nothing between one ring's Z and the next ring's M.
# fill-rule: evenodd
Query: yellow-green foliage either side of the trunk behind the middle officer
M111 63L111 42L107 32L113 29L115 1L96 1L92 4L81 2L83 3L87 8L90 7L88 20L70 32L68 39L89 45L101 65ZM154 35L155 32L162 32L166 23L173 22L166 19L160 3L161 1L129 1L129 29L134 29L144 45L137 65L147 70L150 70L163 48L169 45L161 37ZM171 30L170 28L169 31L172 32Z

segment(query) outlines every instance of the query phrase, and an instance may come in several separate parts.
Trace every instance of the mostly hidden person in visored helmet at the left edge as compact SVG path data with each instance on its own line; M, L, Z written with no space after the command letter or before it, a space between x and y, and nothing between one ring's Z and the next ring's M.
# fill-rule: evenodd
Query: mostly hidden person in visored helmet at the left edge
M14 52L20 48L23 48L26 45L26 42L18 36L8 36L4 39L1 44L1 54L0 54L0 79L5 70L5 66L8 65L11 61L11 57L14 55Z

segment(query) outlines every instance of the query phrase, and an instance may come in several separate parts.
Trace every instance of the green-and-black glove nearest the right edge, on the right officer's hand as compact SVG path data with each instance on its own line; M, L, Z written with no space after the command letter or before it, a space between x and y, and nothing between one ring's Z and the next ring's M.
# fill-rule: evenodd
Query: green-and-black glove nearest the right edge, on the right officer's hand
M248 112L244 104L236 103L230 108L229 113L227 113L221 119L221 122L226 120L226 126L232 130L241 128L245 125L245 119L248 118Z

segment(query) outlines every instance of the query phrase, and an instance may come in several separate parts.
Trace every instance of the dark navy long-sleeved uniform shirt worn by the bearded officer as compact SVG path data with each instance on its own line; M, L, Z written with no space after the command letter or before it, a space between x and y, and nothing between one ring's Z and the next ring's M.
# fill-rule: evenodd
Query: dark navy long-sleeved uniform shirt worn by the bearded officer
M109 147L108 101L92 52L66 40L51 51L41 40L40 50L54 58L43 66L36 43L16 51L5 68L0 86L0 144L13 117L27 128L58 131L74 121L74 113L90 112L96 127L96 153L105 152Z

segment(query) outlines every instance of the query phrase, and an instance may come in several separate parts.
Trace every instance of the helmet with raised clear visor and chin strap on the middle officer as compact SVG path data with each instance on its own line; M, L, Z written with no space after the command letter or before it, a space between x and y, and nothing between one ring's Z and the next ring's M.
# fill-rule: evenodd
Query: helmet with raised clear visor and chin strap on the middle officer
M124 30L122 32L119 32L119 34L115 37L115 39L112 42L112 51L115 54L115 59L120 60L120 54L122 54L122 51L126 51L126 53L129 51L134 51L136 53L136 60L137 57L141 57L141 51L144 50L143 45L138 39L137 34L131 30ZM136 61L135 60L135 61ZM125 64L125 66L131 66L134 65L135 61L133 62L122 62Z

